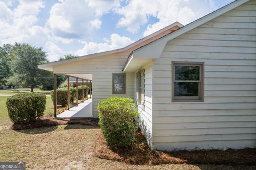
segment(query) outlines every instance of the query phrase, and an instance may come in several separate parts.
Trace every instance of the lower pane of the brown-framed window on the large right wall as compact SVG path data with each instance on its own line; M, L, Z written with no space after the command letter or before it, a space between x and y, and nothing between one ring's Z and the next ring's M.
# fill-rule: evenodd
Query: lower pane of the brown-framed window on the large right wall
M175 82L174 96L199 96L198 82Z

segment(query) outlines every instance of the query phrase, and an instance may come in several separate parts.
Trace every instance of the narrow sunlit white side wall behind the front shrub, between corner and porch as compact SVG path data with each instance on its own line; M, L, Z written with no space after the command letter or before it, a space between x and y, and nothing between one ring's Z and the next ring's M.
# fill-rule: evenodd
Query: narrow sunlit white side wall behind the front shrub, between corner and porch
M144 67L145 69L145 107L144 110L138 106L140 121L139 125L142 133L147 139L151 149L153 149L152 139L152 62L149 62ZM138 71L137 71L138 72ZM137 101L136 95L136 73L134 73L134 101Z

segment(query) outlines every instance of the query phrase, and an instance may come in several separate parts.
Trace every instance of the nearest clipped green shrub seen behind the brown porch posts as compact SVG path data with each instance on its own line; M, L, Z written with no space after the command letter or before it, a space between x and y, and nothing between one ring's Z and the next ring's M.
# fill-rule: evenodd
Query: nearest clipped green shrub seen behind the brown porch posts
M54 103L54 90L51 91L52 102ZM70 87L70 103L74 103L76 99L76 88ZM68 88L57 88L57 104L62 107L68 104Z

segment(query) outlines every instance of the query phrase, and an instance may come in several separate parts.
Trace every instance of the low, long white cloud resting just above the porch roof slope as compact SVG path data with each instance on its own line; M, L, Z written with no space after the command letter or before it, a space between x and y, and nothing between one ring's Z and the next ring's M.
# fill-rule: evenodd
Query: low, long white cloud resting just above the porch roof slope
M134 42L130 38L125 36L119 36L118 34L111 34L110 38L104 38L104 41L104 43L81 42L84 44L84 47L79 49L76 52L76 55L86 55L115 50L117 48L125 47Z

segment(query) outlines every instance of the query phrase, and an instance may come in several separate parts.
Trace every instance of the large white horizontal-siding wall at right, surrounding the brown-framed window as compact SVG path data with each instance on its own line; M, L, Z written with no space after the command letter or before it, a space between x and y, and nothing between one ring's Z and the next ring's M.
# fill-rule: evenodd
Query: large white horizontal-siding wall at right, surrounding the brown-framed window
M205 63L204 102L172 102L172 61ZM256 1L166 44L153 64L153 142L161 150L256 146Z

